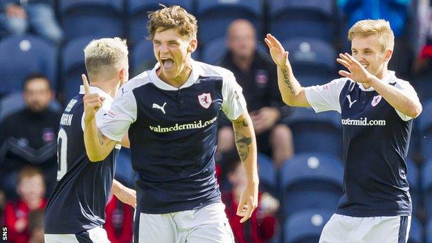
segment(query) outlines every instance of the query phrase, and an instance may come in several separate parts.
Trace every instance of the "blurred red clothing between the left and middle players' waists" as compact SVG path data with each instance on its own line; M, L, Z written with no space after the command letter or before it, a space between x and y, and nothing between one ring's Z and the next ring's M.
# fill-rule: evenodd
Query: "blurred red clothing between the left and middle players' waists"
M111 243L131 243L133 233L134 208L123 204L113 196L105 207L105 225Z

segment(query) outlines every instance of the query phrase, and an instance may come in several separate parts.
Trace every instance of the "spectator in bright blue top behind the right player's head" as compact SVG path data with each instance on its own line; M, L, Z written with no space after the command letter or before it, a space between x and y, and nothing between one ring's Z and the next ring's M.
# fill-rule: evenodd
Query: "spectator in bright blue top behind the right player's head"
M395 33L395 50L388 67L402 79L411 78L415 44L411 43L406 28L411 0L338 0L338 4L348 16L348 28L362 19L385 19L390 22Z

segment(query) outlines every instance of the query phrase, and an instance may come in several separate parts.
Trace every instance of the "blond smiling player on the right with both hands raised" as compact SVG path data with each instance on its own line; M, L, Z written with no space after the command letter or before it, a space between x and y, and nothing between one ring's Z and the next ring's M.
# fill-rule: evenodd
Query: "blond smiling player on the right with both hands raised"
M413 87L387 69L395 43L387 21L359 21L348 38L352 55L337 59L348 69L339 71L344 78L306 88L294 77L280 42L270 34L265 39L287 105L341 113L343 196L319 242L406 242L411 197L405 159L422 105Z

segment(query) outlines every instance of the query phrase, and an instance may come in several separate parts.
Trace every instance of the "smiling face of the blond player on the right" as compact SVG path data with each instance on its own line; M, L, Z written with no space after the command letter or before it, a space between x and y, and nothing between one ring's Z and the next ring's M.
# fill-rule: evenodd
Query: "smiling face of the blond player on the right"
M380 75L390 60L391 51L382 51L377 35L369 37L354 36L351 42L352 56L372 75Z

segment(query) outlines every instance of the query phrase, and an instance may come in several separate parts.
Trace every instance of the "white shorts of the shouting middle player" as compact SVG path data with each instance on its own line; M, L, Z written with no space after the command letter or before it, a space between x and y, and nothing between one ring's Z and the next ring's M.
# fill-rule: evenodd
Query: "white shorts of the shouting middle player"
M135 243L234 243L222 203L176 213L135 215Z

